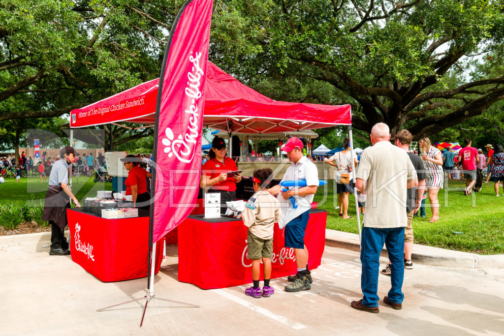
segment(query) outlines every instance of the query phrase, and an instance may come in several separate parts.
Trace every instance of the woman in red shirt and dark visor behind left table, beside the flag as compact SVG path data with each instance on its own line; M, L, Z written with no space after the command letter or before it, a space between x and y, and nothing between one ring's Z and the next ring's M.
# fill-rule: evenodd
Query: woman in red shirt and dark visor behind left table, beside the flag
M128 170L128 178L124 181L126 195L133 195L133 203L135 208L139 209L140 217L148 216L148 213L145 213L145 211L149 211L150 209L151 196L147 192L146 177L151 177L151 174L140 167L142 158L130 154L120 160L124 162L124 168Z

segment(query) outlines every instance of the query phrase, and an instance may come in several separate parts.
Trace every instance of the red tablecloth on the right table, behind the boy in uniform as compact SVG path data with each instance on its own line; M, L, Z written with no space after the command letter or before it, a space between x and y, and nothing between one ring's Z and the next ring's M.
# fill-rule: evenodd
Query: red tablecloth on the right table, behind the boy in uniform
M326 211L310 211L304 237L310 270L321 264L326 243L326 221ZM203 289L251 283L251 261L246 258L246 239L247 228L239 219L206 220L203 215L189 216L178 226L178 280ZM296 273L294 250L285 248L284 242L284 230L275 224L272 279Z

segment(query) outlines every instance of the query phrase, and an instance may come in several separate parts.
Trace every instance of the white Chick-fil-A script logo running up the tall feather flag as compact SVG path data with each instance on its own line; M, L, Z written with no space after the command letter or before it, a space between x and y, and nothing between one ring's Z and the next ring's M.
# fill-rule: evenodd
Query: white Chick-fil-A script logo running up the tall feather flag
M193 63L191 71L187 72L187 86L185 87L184 103L187 104L184 113L190 114L188 126L185 134L178 135L177 139L170 127L166 127L165 135L161 141L165 146L164 152L168 153L168 157L173 155L178 160L185 163L190 163L196 153L196 143L200 137L200 113L198 111L198 99L201 98L200 91L201 79L205 75L200 66L201 52L196 52L195 55L189 56L189 61Z

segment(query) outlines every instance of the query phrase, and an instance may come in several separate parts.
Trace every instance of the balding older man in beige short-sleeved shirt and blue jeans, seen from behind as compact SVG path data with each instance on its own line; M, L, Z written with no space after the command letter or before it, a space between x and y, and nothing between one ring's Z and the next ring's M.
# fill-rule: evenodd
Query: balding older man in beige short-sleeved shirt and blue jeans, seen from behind
M363 298L352 301L351 307L377 313L380 252L384 243L392 262L392 288L383 301L394 309L402 308L407 188L417 186L418 179L406 152L390 143L387 124L373 126L371 144L360 156L355 183L367 199L360 249Z

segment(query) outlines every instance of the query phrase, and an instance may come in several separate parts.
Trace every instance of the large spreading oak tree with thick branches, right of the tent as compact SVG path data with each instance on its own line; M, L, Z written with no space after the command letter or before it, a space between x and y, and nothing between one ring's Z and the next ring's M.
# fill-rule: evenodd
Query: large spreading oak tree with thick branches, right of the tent
M500 1L226 3L248 18L248 45L261 48L256 57L223 60L231 73L254 87L283 82L263 91L275 99L350 103L357 129L369 132L386 122L393 134L406 127L417 139L504 98L500 68L484 76L471 72L482 57L502 64ZM214 48L224 55L228 46Z

